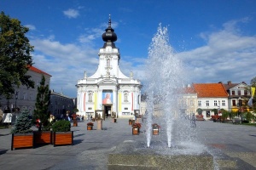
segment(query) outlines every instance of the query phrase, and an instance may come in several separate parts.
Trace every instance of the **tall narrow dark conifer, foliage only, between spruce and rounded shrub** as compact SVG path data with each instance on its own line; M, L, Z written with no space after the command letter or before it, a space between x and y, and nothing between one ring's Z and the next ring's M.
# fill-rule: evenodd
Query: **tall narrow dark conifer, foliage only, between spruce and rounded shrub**
M38 86L38 94L36 100L36 109L34 111L33 119L39 119L39 127L38 131L42 130L43 127L49 127L49 99L50 99L50 90L49 85L45 85L45 77L42 76L42 80L40 82L40 86Z

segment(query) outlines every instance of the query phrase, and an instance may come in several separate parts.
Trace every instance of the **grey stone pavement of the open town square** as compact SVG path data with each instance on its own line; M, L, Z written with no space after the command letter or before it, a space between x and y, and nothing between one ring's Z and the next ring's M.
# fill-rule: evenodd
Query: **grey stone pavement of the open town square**
M72 127L73 145L43 145L34 149L11 149L10 129L0 129L0 168L8 169L108 169L108 154L127 140L146 141L143 125L132 135L127 119L107 119L102 130L87 131L86 123ZM217 150L219 169L256 169L256 127L219 122L196 122L198 139ZM161 131L162 129L160 129ZM161 135L161 134L160 134ZM232 160L232 161L230 161Z

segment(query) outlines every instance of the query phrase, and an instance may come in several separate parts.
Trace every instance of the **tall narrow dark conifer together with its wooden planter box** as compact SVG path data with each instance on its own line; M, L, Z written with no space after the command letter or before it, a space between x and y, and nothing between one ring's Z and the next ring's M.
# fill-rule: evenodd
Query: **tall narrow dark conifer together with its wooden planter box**
M33 115L33 121L38 120L38 131L34 132L35 144L52 144L52 132L50 128L54 122L50 115L49 108L50 90L49 85L45 84L45 77L42 76L40 85L38 86L38 94L36 99L36 109Z

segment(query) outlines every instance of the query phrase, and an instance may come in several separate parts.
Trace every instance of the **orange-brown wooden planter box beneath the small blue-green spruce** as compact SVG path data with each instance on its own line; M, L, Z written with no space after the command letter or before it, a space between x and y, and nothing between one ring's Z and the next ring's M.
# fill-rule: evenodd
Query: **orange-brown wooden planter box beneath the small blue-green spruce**
M11 150L17 148L34 148L34 135L33 133L13 133Z

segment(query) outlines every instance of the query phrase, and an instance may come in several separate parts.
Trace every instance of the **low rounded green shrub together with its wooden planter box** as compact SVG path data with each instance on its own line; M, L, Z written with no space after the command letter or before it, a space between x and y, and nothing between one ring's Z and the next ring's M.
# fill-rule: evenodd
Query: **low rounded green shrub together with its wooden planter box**
M70 129L71 124L66 120L57 121L52 125L54 146L63 144L73 145L73 131Z

